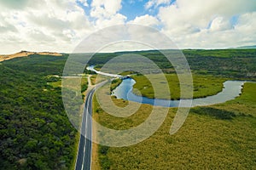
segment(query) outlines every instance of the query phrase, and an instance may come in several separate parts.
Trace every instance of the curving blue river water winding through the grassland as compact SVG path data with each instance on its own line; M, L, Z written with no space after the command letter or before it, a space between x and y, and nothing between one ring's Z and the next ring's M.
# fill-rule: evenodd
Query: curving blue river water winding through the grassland
M222 92L206 98L192 99L192 106L214 105L224 103L230 99L235 99L241 94L241 88L244 82L245 81L226 81L224 82ZM149 105L159 105L164 107L178 107L180 105L180 100L148 99L146 97L137 96L132 93L132 88L135 83L135 80L131 78L123 80L123 82L113 90L113 95L118 99L125 99ZM188 100L189 103L189 99L184 100Z

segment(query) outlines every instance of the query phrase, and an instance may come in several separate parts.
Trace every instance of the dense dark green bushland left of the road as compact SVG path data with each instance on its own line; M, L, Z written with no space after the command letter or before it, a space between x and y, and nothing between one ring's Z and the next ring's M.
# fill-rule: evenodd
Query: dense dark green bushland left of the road
M66 57L32 55L0 65L1 169L72 167L77 131L64 110L59 78Z

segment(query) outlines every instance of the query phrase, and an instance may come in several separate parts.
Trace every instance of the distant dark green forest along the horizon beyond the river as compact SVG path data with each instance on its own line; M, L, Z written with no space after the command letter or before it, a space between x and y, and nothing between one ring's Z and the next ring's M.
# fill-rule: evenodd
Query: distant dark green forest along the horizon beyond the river
M182 52L189 62L191 71L197 74L243 79L256 78L256 49L186 49ZM143 55L153 60L166 73L175 72L172 64L157 50L95 54L89 64L100 68L108 60L121 54Z

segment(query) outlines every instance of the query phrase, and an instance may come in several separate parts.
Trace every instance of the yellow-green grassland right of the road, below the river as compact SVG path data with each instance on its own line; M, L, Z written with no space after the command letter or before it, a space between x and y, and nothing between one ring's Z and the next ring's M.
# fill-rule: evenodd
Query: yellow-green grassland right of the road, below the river
M183 127L169 134L175 108L153 136L129 147L99 146L102 169L255 169L256 84L246 83L240 97L221 105L193 108ZM113 99L117 105L126 101ZM95 102L98 122L114 129L139 125L152 106L127 118L109 116ZM219 112L224 114L220 115ZM227 118L228 117L228 118Z

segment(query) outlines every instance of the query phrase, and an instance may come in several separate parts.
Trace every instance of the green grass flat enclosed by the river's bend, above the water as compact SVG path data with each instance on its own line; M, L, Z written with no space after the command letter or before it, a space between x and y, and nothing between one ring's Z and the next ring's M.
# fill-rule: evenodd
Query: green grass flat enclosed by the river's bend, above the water
M160 79L160 76L149 75L150 79L156 82L154 88L158 88L160 90L160 98L161 99L169 99L170 96L166 93L165 83ZM135 76L133 77L136 81L136 84L133 88L139 90L141 95L154 98L154 88L151 83L148 81L147 77L144 76ZM180 86L179 81L176 74L166 74L166 80L168 82L168 86L171 92L171 99L180 99ZM193 75L193 88L194 88L194 98L203 98L209 95L218 94L222 91L223 82L226 81L227 78L224 77L213 77L209 75ZM134 90L134 93L137 92ZM159 98L159 97L158 97Z

